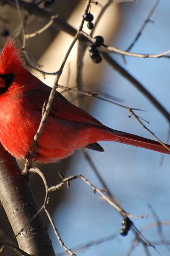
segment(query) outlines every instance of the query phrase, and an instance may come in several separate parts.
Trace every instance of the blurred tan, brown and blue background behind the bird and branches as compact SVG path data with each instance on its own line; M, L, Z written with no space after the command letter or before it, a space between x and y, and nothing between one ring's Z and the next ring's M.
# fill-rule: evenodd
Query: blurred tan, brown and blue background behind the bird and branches
M95 19L101 10L100 4L105 5L107 3L105 0L98 2L98 5L91 4L90 12ZM128 49L147 19L152 7L157 2L158 5L151 15L150 21L142 31L141 37L135 43L131 52L156 54L168 50L170 41L170 2L168 0L112 3L104 12L94 35L103 36L107 45L118 47L121 50ZM52 1L52 4L46 7L46 10L59 14L71 26L78 29L85 5L86 1L56 0ZM3 47L8 36L4 36L4 31L6 30L12 36L15 36L19 31L20 20L16 9L12 9L9 6L1 6L0 13L2 17L0 43L1 47ZM39 20L37 17L30 15L25 32L27 34L33 33L43 27L45 23L42 19ZM90 32L86 28L86 23L83 30ZM60 68L71 41L72 37L70 35L63 32L59 33L51 26L44 33L29 38L26 42L26 49L31 58L35 59L40 65L41 69L54 72ZM17 42L18 46L22 45L20 38L18 38ZM168 58L142 59L125 57L125 63L122 55L112 53L112 56L169 110L170 65ZM109 99L113 99L117 103L131 108L146 110L136 111L135 114L149 122L149 124L146 122L144 124L159 139L166 140L169 124L145 95L135 89L134 85L118 74L116 70L108 66L104 60L97 65L92 63L88 50L86 50L83 62L82 90L97 92L104 98L108 95ZM33 69L30 71L44 83L53 86L54 76L46 76L44 79L40 73ZM75 87L77 86L76 81L77 45L73 48L66 62L59 84ZM62 92L62 90L60 91ZM71 94L63 93L73 103L81 103L81 107L105 125L116 130L151 138L151 135L133 117L129 118L129 113L126 109L92 98L81 98L80 102L77 100L79 95L75 91L72 91ZM163 156L157 152L116 142L101 142L100 145L104 147L104 153L91 150L87 150L87 152L107 184L109 191L126 212L133 215L148 214L147 218L131 218L131 220L139 230L149 225L143 231L143 236L156 246L160 255L169 255L169 156L166 155L163 159ZM161 162L162 165L160 165ZM23 163L19 164L21 167L23 166ZM73 156L64 159L61 163L40 165L40 168L46 174L49 185L54 185L60 181L60 178L58 178L58 171L60 171L65 177L73 174L82 174L96 187L103 188L81 150L76 151ZM39 186L37 186L37 183ZM38 204L41 205L44 198L43 182L36 175L32 175L31 186ZM77 254L84 256L115 254L119 256L128 255L128 252L130 252L135 238L133 231L130 231L128 236L122 237L120 235L122 216L97 193L94 195L92 189L82 181L74 180L71 182L69 189L65 186L52 193L49 209L64 244L70 249L77 248ZM156 213L159 222L167 224L161 227L161 235L158 233L158 220L153 212ZM5 219L3 210L1 220L0 227L3 239L13 241L13 234L10 230L10 225ZM48 221L47 226L55 251L57 255L61 255L63 249L57 242L52 227L48 225ZM84 249L84 245L92 242L96 242L96 244ZM158 255L157 251L151 247L146 251L145 246L139 243L131 255Z

